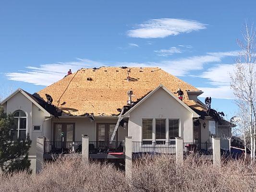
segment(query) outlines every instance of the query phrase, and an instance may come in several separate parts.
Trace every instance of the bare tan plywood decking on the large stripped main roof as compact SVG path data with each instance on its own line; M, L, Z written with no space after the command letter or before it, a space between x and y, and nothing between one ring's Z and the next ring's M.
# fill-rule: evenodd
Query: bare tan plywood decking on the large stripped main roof
M136 101L159 84L163 84L172 93L180 87L184 92L184 103L188 106L195 105L193 100L188 99L185 91L198 91L194 86L160 68L132 67L130 69L131 81L129 82L126 79L128 69L120 67L101 67L96 70L81 69L77 74L73 73L49 85L37 94L45 100L45 94L49 94L53 98L53 104L57 106L60 96L73 78L61 97L59 108L71 115L89 113L95 116L111 116L118 115L117 108L122 108L127 104L128 90L133 90L134 96L132 98L133 101ZM92 78L92 81L88 81L88 77ZM61 105L63 103L64 105Z

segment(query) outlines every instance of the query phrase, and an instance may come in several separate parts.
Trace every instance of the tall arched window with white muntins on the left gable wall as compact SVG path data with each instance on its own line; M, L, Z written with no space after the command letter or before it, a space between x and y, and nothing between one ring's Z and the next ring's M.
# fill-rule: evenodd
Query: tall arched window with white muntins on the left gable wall
M27 117L24 111L17 110L13 113L14 116L14 124L12 127L13 140L17 138L25 139L26 138L26 122Z

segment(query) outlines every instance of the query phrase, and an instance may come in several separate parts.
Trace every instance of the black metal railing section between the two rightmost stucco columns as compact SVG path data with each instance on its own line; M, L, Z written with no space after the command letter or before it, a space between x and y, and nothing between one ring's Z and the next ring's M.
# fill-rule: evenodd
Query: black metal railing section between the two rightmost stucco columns
M183 143L185 153L199 153L201 155L212 154L212 143Z

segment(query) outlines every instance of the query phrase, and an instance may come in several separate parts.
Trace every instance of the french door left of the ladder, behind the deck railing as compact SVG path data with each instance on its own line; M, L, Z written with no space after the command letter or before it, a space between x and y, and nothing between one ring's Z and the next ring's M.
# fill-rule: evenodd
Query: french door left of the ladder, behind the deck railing
M54 123L53 141L73 142L74 123Z

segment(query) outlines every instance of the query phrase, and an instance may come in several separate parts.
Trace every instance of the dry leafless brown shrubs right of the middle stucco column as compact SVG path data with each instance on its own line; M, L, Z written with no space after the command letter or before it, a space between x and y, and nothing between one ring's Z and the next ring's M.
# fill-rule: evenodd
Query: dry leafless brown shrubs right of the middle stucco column
M134 165L132 184L138 192L256 191L256 166L229 160L220 167L189 156L176 165L175 156L145 157Z

